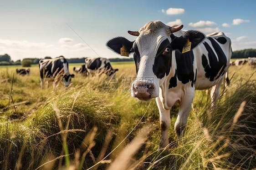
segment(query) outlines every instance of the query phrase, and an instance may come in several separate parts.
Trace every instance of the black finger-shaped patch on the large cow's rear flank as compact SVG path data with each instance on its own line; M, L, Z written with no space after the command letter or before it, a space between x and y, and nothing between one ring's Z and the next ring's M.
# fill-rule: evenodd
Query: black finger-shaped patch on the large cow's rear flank
M208 39L211 41L214 49L212 49L207 42L203 43L206 50L208 51L210 65L208 64L207 57L205 55L202 55L202 65L205 68L205 76L209 78L210 81L214 81L225 73L227 59L224 52L220 48L220 45L218 45L218 43L213 38L208 37ZM215 55L214 50L217 56Z

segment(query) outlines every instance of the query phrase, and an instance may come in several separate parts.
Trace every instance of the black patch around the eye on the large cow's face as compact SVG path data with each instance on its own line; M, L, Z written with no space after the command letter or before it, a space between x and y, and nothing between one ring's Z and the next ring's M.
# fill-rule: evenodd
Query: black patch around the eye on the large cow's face
M165 48L169 47L170 50L168 52L164 52ZM157 78L162 79L165 75L169 75L172 60L171 60L171 46L168 39L164 40L158 50L157 55L154 60L153 72Z

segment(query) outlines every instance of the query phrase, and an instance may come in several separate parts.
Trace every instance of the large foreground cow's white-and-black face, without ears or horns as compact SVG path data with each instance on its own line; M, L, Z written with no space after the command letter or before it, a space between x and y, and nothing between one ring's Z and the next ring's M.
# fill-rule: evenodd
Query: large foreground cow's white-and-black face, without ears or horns
M169 28L160 28L150 34L141 32L133 43L132 51L137 78L132 84L133 97L149 100L158 97L171 67L171 39Z

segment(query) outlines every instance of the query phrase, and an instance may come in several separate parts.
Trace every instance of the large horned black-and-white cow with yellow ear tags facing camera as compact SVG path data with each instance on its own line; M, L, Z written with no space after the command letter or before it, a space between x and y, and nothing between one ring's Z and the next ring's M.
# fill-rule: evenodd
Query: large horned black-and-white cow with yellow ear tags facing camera
M195 90L212 87L214 105L222 81L229 81L230 39L223 33L205 36L195 30L184 32L182 28L183 25L170 27L152 21L139 31L128 31L138 36L133 42L117 37L107 43L118 54L122 47L133 53L137 78L131 95L139 100L156 98L161 125L159 149L169 144L170 109L176 101L180 107L174 129L179 137L187 123ZM187 52L182 53L183 50Z

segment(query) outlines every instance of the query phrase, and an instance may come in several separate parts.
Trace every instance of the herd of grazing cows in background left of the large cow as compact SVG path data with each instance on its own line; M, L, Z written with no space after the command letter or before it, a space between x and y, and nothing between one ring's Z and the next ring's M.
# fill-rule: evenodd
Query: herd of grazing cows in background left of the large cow
M81 67L74 67L74 72L83 73L84 75L106 74L115 76L118 69L113 69L110 61L106 58L86 58L85 64ZM64 86L69 86L71 78L75 75L70 74L68 70L68 62L63 56L54 59L39 60L39 72L41 88L44 88L46 81L53 81L55 88L59 81L62 80ZM18 75L29 75L29 68L17 68Z

